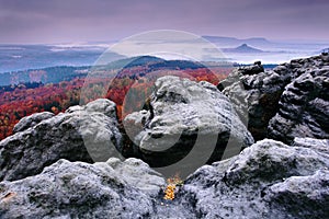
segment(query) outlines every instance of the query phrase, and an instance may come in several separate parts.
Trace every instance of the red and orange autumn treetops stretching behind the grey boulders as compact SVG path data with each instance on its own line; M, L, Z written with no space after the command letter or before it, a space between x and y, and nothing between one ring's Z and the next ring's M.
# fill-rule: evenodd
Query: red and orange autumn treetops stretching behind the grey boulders
M193 70L160 70L146 76L135 67L122 71L114 79L92 78L73 79L58 84L45 84L34 89L16 85L12 91L0 90L0 140L12 135L14 125L24 116L39 112L58 114L71 105L88 103L99 97L112 100L117 105L117 115L122 120L127 114L143 108L145 101L152 91L155 80L171 74L189 78L194 81L208 81L217 84L225 79L231 69L206 68ZM81 88L83 90L81 91ZM80 99L81 97L81 99Z

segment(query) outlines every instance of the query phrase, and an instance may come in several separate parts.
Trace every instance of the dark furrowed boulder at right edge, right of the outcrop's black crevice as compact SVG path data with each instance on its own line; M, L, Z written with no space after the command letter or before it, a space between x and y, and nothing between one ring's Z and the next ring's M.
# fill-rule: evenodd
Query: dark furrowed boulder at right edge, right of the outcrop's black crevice
M329 139L329 62L319 64L324 66L300 68L302 74L285 87L279 112L270 120L270 138L287 143L296 136Z

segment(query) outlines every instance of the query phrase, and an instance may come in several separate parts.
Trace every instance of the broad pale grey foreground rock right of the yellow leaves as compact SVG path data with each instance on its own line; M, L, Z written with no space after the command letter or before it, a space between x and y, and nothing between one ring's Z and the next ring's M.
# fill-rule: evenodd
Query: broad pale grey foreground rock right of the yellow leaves
M202 166L178 203L197 218L328 218L329 141L306 140L314 145L262 140L230 160Z

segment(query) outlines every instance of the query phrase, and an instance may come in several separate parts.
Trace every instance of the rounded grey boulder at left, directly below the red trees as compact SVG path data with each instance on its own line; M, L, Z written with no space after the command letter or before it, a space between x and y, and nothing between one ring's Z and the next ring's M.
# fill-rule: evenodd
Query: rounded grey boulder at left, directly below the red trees
M57 116L23 118L15 126L18 132L0 142L0 181L41 173L59 159L106 161L121 143L115 112L113 102L101 99Z

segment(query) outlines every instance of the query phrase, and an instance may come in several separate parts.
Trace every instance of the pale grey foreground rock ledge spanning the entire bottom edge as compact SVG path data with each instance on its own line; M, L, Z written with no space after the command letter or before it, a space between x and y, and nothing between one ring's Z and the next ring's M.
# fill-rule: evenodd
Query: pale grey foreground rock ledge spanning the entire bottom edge
M0 183L1 218L328 218L329 141L262 140L204 165L163 199L163 177L137 159L59 160Z

